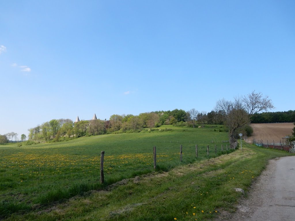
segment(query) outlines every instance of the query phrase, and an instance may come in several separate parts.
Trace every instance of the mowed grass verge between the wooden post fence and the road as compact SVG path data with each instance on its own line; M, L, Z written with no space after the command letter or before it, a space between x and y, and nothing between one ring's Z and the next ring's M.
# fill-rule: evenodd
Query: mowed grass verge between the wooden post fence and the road
M123 180L6 220L212 220L221 210L235 210L241 193L234 188L247 192L269 159L289 155L243 143L242 151Z

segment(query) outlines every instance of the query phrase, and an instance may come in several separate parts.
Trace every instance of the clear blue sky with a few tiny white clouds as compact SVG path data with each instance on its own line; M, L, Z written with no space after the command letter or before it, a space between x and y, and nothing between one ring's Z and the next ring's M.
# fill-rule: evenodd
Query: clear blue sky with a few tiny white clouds
M0 134L51 119L295 110L295 1L1 1Z

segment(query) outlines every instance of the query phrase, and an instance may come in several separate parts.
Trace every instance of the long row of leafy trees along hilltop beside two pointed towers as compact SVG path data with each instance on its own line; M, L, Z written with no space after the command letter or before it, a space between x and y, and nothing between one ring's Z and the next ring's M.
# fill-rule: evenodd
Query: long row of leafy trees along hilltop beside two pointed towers
M132 114L113 114L109 120L81 120L74 123L71 119L53 119L28 129L31 141L64 141L81 136L115 133L139 132L143 128L161 125L192 126L197 124L223 124L222 113L212 110L199 112L195 108L185 110L153 111ZM30 143L30 142L29 142Z

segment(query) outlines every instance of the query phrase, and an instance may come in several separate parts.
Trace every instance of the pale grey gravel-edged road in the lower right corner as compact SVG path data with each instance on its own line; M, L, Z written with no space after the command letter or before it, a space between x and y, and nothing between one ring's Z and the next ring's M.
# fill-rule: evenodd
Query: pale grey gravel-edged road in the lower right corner
M295 220L295 156L269 161L233 214L222 212L216 221Z

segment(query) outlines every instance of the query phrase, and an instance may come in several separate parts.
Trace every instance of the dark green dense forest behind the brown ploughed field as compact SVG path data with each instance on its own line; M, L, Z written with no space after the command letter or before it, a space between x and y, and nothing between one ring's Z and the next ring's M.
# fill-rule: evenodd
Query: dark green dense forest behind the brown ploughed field
M251 123L295 122L295 110L257 113L251 117Z

